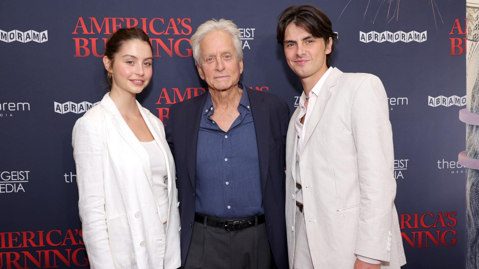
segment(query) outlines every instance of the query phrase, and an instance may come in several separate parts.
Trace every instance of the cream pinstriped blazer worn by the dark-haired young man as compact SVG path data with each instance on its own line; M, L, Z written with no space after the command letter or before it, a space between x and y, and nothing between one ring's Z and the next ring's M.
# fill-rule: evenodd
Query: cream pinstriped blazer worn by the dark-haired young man
M295 119L286 142L286 228L294 261ZM394 205L394 151L381 80L334 68L321 88L299 156L308 246L315 269L352 269L356 255L406 263Z

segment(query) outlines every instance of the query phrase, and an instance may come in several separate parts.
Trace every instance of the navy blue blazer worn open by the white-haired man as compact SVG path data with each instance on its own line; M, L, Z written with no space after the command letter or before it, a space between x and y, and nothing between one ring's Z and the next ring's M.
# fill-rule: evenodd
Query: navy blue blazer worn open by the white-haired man
M246 88L246 87L245 87ZM285 224L285 147L289 107L274 94L246 89L251 104L258 157L264 216L275 267L288 268ZM176 166L176 186L181 218L182 265L188 253L194 222L196 146L206 94L171 105L166 139Z

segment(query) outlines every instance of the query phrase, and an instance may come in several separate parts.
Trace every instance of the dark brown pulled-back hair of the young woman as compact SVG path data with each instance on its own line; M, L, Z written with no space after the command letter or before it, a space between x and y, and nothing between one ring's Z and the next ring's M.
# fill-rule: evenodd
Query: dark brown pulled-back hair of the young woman
M115 54L121 49L121 46L123 44L130 40L139 40L148 43L149 47L151 48L151 52L153 53L153 47L151 46L148 35L145 34L143 30L135 27L121 28L113 34L110 34L110 36L108 36L108 39L106 40L105 56L110 59L110 67L113 67L113 59L115 57ZM108 82L112 84L112 79L108 78Z

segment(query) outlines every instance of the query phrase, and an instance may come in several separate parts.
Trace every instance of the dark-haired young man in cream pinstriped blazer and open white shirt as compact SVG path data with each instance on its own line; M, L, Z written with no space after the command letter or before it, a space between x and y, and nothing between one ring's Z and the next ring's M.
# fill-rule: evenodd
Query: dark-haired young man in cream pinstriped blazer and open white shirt
M303 85L286 140L290 268L399 269L406 259L381 80L330 67L337 34L312 5L283 11L277 39Z

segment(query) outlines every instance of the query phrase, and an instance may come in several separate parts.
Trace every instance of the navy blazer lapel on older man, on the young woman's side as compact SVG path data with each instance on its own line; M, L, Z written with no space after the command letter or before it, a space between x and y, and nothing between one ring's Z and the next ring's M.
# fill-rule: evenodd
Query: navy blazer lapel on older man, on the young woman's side
M190 174L193 191L196 190L196 148L198 146L198 132L200 129L201 115L205 106L207 93L195 98L187 108L185 130L186 164ZM190 116L191 115L191 116Z

